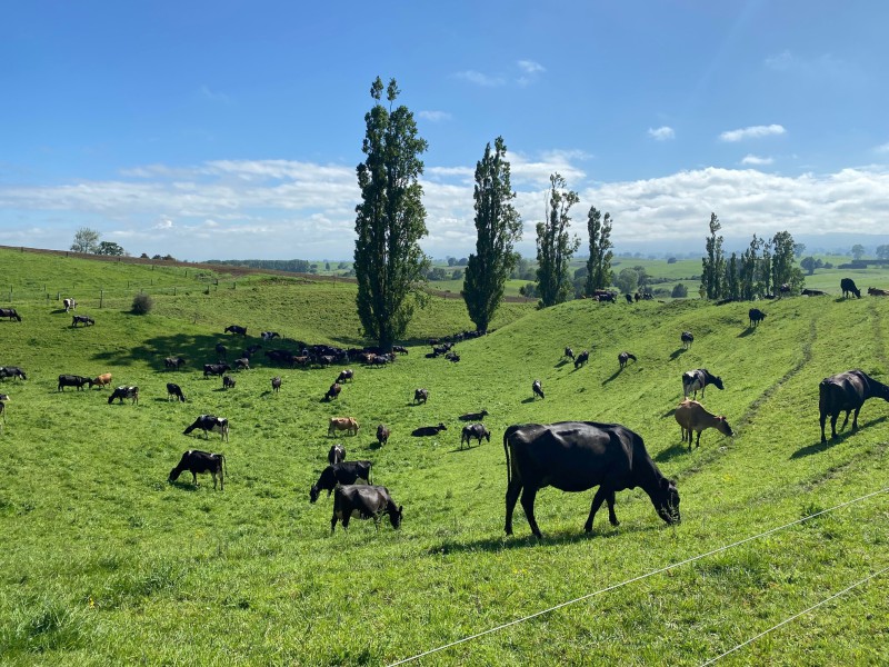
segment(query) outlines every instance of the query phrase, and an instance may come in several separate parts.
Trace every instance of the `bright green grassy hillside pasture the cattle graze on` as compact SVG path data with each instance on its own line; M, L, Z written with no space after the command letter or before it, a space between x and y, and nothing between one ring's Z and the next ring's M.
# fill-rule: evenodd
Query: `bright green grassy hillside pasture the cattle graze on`
M11 396L0 434L7 664L386 664L670 568L421 663L699 665L889 565L887 496L857 500L889 486L889 405L869 401L861 428L827 445L817 409L825 376L862 368L889 379L889 300L769 302L756 330L743 303L509 305L497 330L459 344L462 360L450 364L424 358L419 341L469 323L460 301L436 299L412 323L409 355L354 366L354 381L327 404L337 368L280 369L260 356L228 391L199 369L216 342L240 349L263 329L357 344L353 287L262 277L231 287L224 277L216 285L219 276L186 282L146 267L26 266L26 257L0 251L13 286L46 280L46 295L77 276L62 296L81 298L78 312L97 323L72 329L56 295L39 288L13 298L22 322L0 321L0 365L28 372L0 384ZM176 295L156 290L151 315L129 313L133 288L123 285L152 288L161 276ZM101 309L81 296L112 283ZM223 336L229 323L251 336ZM696 336L689 350L679 344L686 329ZM566 362L567 345L589 349L590 362ZM639 358L623 371L621 350ZM184 370L163 370L172 354L189 359ZM709 388L703 402L737 436L708 430L689 452L672 409L681 372L697 367L722 377L726 389ZM109 406L100 389L57 391L59 374L103 371L138 385L139 405ZM533 379L542 401L531 398ZM187 404L167 401L171 380ZM427 405L412 405L417 387L430 390ZM460 450L456 418L481 408L491 442ZM230 442L182 435L204 412L230 419ZM328 438L328 418L347 415L359 435ZM636 489L618 494L620 527L601 511L586 535L592 492L545 489L543 540L520 509L506 538L503 429L561 419L639 432L678 480L682 524L665 526ZM409 436L439 421L448 426L439 437ZM392 431L383 448L379 422ZM331 500L308 496L334 441L349 459L373 461L374 482L404 506L399 531L356 520L330 535ZM209 477L198 488L188 474L166 481L189 448L224 451L224 491ZM822 509L831 511L723 549ZM885 587L878 576L723 663L885 664Z

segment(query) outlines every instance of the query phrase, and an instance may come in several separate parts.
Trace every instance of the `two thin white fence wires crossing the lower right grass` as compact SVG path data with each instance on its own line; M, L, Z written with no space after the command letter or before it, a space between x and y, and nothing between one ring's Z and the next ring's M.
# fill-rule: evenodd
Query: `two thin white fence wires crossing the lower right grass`
M556 610L561 609L563 607L568 607L570 605L575 605L577 603L581 603L583 600L588 600L588 599L593 598L596 596L599 596L599 595L602 595L602 594L606 594L606 593L610 593L611 590L617 590L618 588L622 588L625 586L629 586L630 584L635 584L636 581L641 581L642 579L648 579L649 577L653 577L655 575L660 575L660 574L663 574L663 573L669 571L671 569L676 569L676 568L678 568L678 567L680 567L682 565L688 565L690 563L695 563L696 560L701 560L702 558L707 558L709 556L713 556L716 554L719 554L721 551L726 551L726 550L731 549L733 547L738 547L740 545L747 544L747 542L752 541L755 539L759 539L760 537L766 537L768 535L772 535L775 532L778 532L780 530L785 530L785 529L790 528L792 526L797 526L798 524L802 524L805 521L808 521L808 520L813 519L816 517L819 517L821 515L831 512L833 510L842 509L843 507L848 507L850 505L855 505L856 502L861 502L862 500L867 500L867 499L872 498L875 496L879 496L880 494L886 494L887 491L889 491L889 487L885 487L885 488L879 489L877 491L871 491L870 494L866 494L863 496L859 496L858 498L853 498L852 500L847 500L846 502L840 502L839 505L835 505L833 507L830 507L828 509L822 509L822 510L817 511L815 514L811 514L811 515L809 515L807 517L802 517L801 519L797 519L795 521L790 521L789 524L783 524L782 526L777 526L775 528L770 528L770 529L765 530L763 532L760 532L758 535L746 537L743 539L740 539L738 541L731 542L729 545L725 545L725 546L718 547L716 549L707 551L706 554L699 554L698 556L692 556L691 558L686 558L685 560L680 560L678 563L673 563L671 565L658 568L656 570L651 570L651 571L646 573L643 575L639 575L638 577L632 577L631 579L626 579L626 580L623 580L623 581L621 581L619 584L613 584L613 585L608 586L606 588L601 588L601 589L599 589L599 590L597 590L595 593L588 593L588 594L582 595L580 597L577 597L575 599L567 600L565 603L559 603L558 605L553 605L552 607L549 607L547 609L541 609L540 611L536 611L535 614L530 614L528 616L523 616L521 618L517 618L515 620L510 620L509 623L505 623L505 624L501 624L499 626L495 626L492 628L488 628L487 630L482 630L481 633L476 633L475 635L469 635L468 637L462 637L462 638L457 639L455 641L451 641L449 644L444 644L442 646L438 646L436 648L431 648L431 649L426 650L423 653L420 653L420 654L410 656L408 658L403 658L401 660L398 660L396 663L390 663L389 667L396 667L397 665L404 665L404 664L411 663L413 660L419 660L420 658L423 658L426 656L430 656L432 654L440 653L440 651L447 650L449 648L453 648L455 646L459 646L461 644L466 644L468 641L472 641L473 639L478 639L480 637L485 637L486 635L491 635L493 633L498 633L500 630L505 630L506 628L512 627L515 625L519 625L521 623L525 623L527 620L531 620L533 618L538 618L540 616L543 616L543 615L549 614L551 611L556 611ZM882 570L879 570L878 573L875 573L875 574L870 575L869 577L866 577L865 579L861 579L860 581L857 581L856 584L849 586L847 589L841 590L838 594L835 594L833 596L831 596L830 598L827 598L826 600L822 600L821 603L818 603L817 605L815 605L810 609L807 609L806 611L801 611L800 614L797 614L796 616L793 616L793 617L791 617L791 618L778 624L777 626L770 628L769 630L766 630L766 633L762 633L762 634L758 635L757 637L753 637L753 638L749 639L745 644L738 645L737 647L735 647L730 651L727 651L723 655L729 655L730 653L732 653L733 650L737 650L738 648L741 648L746 644L749 644L750 641L756 640L758 637L760 637L760 636L762 636L765 634L768 634L769 631L773 630L777 627L780 627L781 625L783 625L786 623L789 623L790 620L792 620L797 616L806 614L807 611L823 605L825 603L829 601L830 599L833 599L836 597L839 597L839 596L843 595L848 590L851 590L852 588L855 588L857 586L860 586L861 584L863 584L863 583L866 583L866 581L868 581L868 580L870 580L870 579L872 579L872 578L886 573L887 570L889 570L889 568L885 568ZM723 656L719 656L716 659L719 659L721 657L723 657ZM709 665L709 664L710 663L705 663L705 665Z

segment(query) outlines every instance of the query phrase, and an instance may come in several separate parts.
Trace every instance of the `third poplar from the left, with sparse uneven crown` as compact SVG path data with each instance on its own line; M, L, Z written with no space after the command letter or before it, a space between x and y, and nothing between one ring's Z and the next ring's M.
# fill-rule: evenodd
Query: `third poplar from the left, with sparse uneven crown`
M549 186L546 221L537 223L537 291L541 308L568 299L571 292L568 262L580 247L580 239L568 235L571 225L568 213L580 198L567 189L565 179L558 173L549 177Z

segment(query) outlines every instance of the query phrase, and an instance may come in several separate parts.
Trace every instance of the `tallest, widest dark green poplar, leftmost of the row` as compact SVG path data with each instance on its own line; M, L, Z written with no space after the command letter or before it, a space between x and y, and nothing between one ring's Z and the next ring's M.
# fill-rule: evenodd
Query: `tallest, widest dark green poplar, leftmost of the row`
M403 104L392 108L401 92L396 80L386 88L388 108L380 102L382 91L377 77L370 89L373 108L364 116L361 150L367 157L357 168L361 203L356 207L354 273L364 335L388 351L423 301L429 262L419 246L427 229L418 178L427 142L417 133L413 113Z

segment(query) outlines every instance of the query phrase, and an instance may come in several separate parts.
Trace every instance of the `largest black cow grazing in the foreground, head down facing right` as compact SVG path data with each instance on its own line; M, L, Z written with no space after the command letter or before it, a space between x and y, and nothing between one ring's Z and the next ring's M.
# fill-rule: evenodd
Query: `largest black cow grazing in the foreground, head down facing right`
M548 486L572 492L599 486L583 526L587 532L592 530L592 520L602 502L608 504L609 521L618 526L615 494L636 487L648 494L661 519L668 524L680 520L676 482L661 475L642 438L619 424L560 421L510 426L503 434L503 449L507 535L512 535L512 510L521 494L531 532L542 537L535 520L535 497Z

